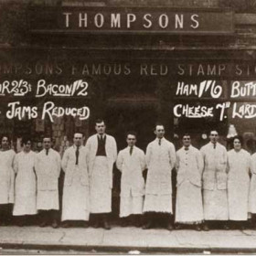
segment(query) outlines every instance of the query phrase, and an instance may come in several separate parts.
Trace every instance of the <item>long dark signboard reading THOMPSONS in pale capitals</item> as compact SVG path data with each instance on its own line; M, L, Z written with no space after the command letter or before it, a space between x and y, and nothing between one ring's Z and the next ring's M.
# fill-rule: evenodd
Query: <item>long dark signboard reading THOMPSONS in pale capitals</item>
M233 33L233 12L219 9L152 7L62 7L31 12L34 32Z

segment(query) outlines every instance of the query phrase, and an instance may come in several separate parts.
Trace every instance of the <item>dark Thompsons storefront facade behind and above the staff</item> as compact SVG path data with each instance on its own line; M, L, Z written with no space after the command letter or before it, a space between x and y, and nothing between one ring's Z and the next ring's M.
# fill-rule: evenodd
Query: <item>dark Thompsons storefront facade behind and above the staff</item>
M234 125L255 152L253 14L220 1L78 2L28 6L26 44L0 49L0 129L17 151L27 134L40 150L48 133L62 155L73 133L86 140L103 118L119 150L130 130L145 150L161 122L176 149L183 133L206 144L210 129L229 147Z

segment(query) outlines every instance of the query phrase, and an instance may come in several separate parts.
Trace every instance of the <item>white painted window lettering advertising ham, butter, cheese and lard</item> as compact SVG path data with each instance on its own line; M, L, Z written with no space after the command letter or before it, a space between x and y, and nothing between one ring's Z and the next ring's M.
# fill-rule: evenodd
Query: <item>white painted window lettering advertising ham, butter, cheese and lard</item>
M203 80L200 83L187 83L178 81L176 86L176 97L193 96L196 98L205 98L209 104L198 104L190 102L174 106L174 115L176 117L186 118L208 118L213 117L216 111L219 113L219 121L226 119L227 111L230 111L231 118L251 119L256 118L256 104L253 102L235 102L232 99L253 99L256 96L256 81L240 81L230 82L228 90L230 101L215 102L223 96L223 86L216 80ZM184 99L184 98L182 98ZM186 101L186 99L185 99Z

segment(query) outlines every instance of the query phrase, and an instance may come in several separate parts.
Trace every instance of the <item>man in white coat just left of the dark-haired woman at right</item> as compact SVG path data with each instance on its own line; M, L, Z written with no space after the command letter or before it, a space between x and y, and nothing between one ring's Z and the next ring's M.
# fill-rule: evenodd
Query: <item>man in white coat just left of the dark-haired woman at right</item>
M213 220L221 220L223 228L229 229L227 150L218 143L217 131L212 130L209 139L210 142L200 149L204 159L203 206L206 222L203 229L208 230L208 224Z

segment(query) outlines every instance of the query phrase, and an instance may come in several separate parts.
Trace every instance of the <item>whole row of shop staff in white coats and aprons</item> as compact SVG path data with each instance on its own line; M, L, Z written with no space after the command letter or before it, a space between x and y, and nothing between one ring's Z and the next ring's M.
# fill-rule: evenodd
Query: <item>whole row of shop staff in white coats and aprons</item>
M23 150L9 148L2 136L0 151L0 225L12 213L19 226L39 213L40 227L59 227L59 175L65 173L61 226L80 225L111 229L112 169L116 162L122 173L120 217L122 226L166 229L192 225L208 230L219 221L224 229L231 223L238 229L256 214L256 154L241 148L242 139L233 139L233 149L218 143L219 133L211 131L210 142L200 150L191 144L188 133L177 152L165 139L165 127L155 125L155 140L146 154L136 144L136 133L126 134L127 147L117 154L115 139L105 133L103 120L96 132L82 145L82 134L75 133L74 144L62 157L51 148L51 138L43 139L43 150L31 150L32 140L23 138ZM173 220L172 170L176 169L176 214ZM146 181L143 172L147 169ZM254 223L255 221L253 221Z

